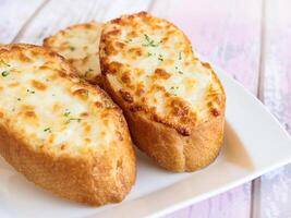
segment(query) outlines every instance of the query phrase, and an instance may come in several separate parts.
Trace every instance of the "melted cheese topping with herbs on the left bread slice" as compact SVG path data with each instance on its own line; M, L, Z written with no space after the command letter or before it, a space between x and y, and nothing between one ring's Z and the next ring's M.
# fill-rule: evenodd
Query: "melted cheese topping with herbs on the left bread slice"
M61 57L41 47L0 47L0 125L56 154L118 143L121 111L100 88L73 74Z

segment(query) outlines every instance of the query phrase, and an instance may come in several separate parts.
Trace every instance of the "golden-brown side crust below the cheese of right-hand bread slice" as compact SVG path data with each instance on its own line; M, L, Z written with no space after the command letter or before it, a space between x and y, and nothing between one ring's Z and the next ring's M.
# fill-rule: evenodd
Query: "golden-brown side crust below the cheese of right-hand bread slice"
M223 141L225 114L210 118L184 136L172 128L131 112L108 80L105 80L105 89L123 109L134 144L162 168L195 171L210 165L218 156Z

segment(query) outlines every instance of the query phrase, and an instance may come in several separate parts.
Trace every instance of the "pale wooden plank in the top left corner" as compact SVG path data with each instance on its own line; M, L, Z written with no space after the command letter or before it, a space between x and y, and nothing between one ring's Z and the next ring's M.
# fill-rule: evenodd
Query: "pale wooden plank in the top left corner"
M0 44L9 44L45 0L0 0Z

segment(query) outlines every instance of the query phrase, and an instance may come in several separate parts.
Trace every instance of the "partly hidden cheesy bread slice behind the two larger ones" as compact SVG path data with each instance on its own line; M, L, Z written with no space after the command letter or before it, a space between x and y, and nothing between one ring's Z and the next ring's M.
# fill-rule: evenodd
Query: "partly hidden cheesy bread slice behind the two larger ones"
M63 56L78 75L92 84L101 85L99 41L102 24L89 22L60 31L44 40L44 46Z

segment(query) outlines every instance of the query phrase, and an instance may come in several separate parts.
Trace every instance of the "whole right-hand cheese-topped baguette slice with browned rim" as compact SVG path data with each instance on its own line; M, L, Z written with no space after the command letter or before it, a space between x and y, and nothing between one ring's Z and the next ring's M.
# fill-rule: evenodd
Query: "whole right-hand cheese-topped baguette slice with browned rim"
M173 24L146 12L105 24L105 89L123 109L134 143L171 171L194 171L219 154L223 88Z

